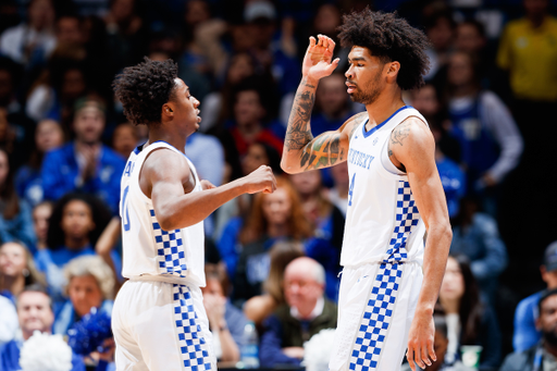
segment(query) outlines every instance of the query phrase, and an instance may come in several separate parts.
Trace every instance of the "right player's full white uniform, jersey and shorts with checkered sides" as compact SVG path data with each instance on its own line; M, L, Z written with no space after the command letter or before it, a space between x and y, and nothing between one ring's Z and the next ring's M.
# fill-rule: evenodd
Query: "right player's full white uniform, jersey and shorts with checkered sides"
M366 131L348 152L348 211L341 264L337 342L330 370L399 370L423 273L424 223L408 176L389 160L393 129L409 116L405 106Z

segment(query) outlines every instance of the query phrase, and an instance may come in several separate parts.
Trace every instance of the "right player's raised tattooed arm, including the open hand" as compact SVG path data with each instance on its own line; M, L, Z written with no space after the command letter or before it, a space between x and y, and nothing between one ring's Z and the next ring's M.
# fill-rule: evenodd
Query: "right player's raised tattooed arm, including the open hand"
M313 138L310 128L319 81L331 75L338 65L338 59L331 62L334 48L335 42L326 36L318 35L318 40L310 37L301 66L301 83L294 98L284 140L281 168L286 173L332 166L342 161L344 146L348 148L348 137L343 136L342 129L323 133Z

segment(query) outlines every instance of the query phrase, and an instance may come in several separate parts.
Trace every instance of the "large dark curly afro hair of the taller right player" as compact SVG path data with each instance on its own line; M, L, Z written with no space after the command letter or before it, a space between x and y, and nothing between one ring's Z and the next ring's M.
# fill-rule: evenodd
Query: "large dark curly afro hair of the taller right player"
M372 12L368 7L361 12L344 15L338 30L342 47L364 47L384 63L399 62L396 82L403 90L423 85L423 75L430 69L425 53L430 41L423 32L410 26L396 12Z

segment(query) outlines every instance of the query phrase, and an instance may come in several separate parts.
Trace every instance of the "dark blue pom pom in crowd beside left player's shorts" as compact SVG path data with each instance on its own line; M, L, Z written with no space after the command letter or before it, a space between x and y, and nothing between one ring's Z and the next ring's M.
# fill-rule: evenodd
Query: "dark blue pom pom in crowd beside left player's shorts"
M67 330L67 344L75 354L88 356L92 351L103 353L102 343L112 338L110 317L96 308Z

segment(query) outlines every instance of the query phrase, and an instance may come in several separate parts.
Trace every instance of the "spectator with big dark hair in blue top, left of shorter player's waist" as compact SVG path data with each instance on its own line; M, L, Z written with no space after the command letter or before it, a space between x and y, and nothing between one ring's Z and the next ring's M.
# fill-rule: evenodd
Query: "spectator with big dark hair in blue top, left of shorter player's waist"
M70 194L54 206L47 236L48 248L37 252L36 263L47 277L57 306L63 301L64 267L74 258L95 255L94 246L109 220L108 209L90 195ZM122 267L115 251L112 251L112 259L116 267Z

